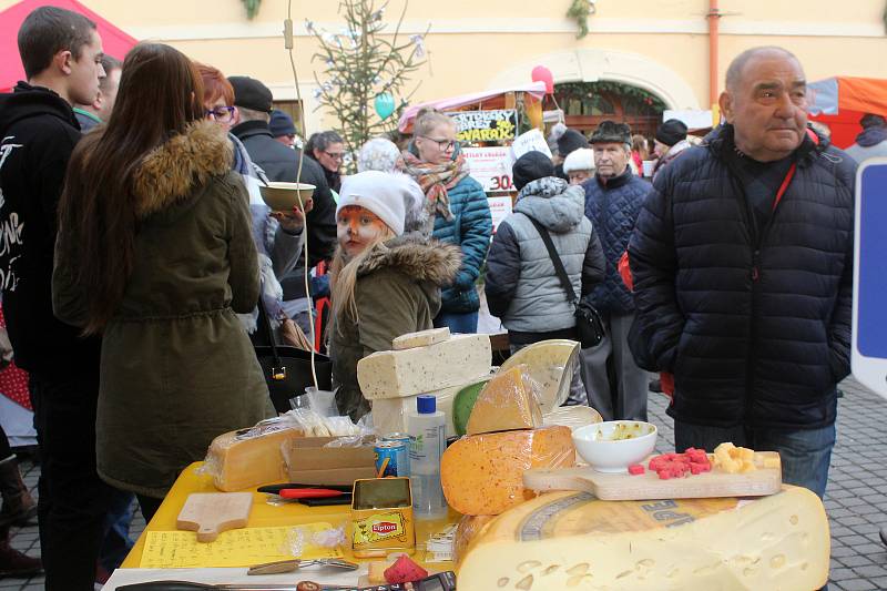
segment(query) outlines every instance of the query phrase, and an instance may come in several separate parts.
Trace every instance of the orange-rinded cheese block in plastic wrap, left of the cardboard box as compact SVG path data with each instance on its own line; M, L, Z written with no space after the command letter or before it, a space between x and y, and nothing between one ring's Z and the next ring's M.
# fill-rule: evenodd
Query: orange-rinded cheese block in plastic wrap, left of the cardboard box
M231 492L286 480L283 446L304 437L302 429L288 428L256 437L238 437L237 431L220 435L210 445L207 470L218 490Z

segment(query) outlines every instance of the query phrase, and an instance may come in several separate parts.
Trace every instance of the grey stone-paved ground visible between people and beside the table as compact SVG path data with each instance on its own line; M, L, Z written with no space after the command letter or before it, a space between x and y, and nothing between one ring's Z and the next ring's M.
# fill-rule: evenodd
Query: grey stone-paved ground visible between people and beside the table
M887 400L853 379L840 385L838 437L832 456L825 506L832 523L829 591L887 590L887 549L878 531L887 526ZM673 421L665 415L665 397L650 395L650 420L660 427L662 450L673 449ZM24 462L26 482L37 487L40 468ZM144 529L136 511L132 537ZM40 553L35 527L12 530L12 544L29 554ZM0 591L43 589L42 577L2 579ZM767 590L755 590L767 591Z

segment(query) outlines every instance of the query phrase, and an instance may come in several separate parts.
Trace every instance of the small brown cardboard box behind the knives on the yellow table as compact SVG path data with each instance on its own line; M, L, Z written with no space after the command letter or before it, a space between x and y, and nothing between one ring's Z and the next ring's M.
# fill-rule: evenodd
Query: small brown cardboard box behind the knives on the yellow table
M361 447L324 447L336 437L304 437L284 448L290 482L303 485L353 485L376 477L373 444Z

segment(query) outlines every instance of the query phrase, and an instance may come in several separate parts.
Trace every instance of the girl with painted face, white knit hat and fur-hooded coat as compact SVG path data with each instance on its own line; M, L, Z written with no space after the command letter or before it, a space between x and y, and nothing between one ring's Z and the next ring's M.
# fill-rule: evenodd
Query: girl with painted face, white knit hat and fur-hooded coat
M369 412L357 361L391 348L395 337L434 327L440 288L461 264L458 246L401 235L410 187L398 175L366 171L341 184L333 259L330 357L339 412Z

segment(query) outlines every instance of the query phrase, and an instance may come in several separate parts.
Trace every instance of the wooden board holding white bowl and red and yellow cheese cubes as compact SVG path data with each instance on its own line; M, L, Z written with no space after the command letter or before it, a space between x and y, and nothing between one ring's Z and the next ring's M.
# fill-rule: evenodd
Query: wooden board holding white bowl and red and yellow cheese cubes
M775 451L758 452L779 457ZM646 469L650 458L643 461ZM590 467L527 470L523 486L537 491L579 490L605 501L649 499L705 499L712 497L766 497L782 487L781 468L762 468L745 473L726 473L718 468L711 472L663 480L656 472L632 476L599 472Z

